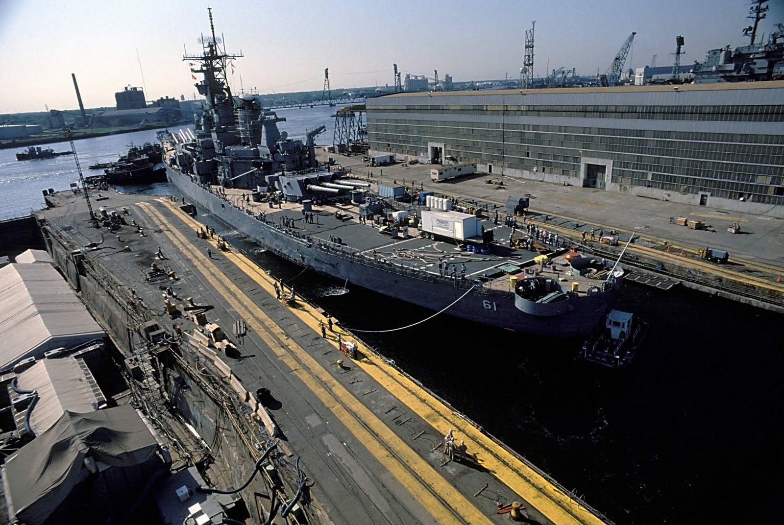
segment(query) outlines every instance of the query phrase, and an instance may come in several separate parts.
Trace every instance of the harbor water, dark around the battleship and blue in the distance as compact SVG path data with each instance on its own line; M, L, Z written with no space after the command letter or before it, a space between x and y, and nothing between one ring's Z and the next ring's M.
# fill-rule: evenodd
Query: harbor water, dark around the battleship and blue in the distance
M336 108L281 110L294 139ZM114 161L154 131L76 142L89 164ZM67 150L68 143L46 144ZM78 179L70 156L17 162L0 150L0 218L43 205L41 190ZM95 173L95 170L92 170ZM167 184L129 188L170 194ZM373 291L345 287L243 241L234 245L347 328L388 330L430 316ZM575 360L580 341L534 337L437 316L363 339L615 523L777 523L782 488L781 316L684 288L627 283L620 310L648 320L633 364ZM510 497L512 494L509 494Z

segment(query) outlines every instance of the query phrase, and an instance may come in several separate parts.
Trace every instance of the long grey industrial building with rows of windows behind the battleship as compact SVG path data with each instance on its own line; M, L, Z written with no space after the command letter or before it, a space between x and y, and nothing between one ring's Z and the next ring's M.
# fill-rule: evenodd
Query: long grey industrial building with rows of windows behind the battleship
M369 154L784 216L782 88L396 93L366 102Z

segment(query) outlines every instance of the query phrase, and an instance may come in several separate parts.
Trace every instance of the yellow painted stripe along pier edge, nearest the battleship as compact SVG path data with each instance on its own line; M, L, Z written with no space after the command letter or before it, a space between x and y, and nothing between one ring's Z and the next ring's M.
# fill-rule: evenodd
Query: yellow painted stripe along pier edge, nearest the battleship
M169 203L165 204L169 205ZM169 206L173 211L180 212L178 208ZM180 217L194 230L201 226L181 212ZM260 270L254 262L238 253L230 252L226 255L256 284L270 294L274 294L272 287L274 280ZM318 321L320 320L318 313L307 306L302 310L292 310L292 313L318 333ZM336 342L332 342L332 344L336 345ZM433 425L438 432L445 434L449 429L456 429L462 433L464 437L460 439L466 440L468 451L475 454L477 461L490 470L499 481L510 487L512 491L532 503L535 509L542 512L549 520L554 523L603 523L593 513L575 503L564 491L521 462L514 454L499 447L488 436L479 432L474 425L470 425L463 418L456 416L451 408L417 386L400 371L388 366L375 355L368 354L368 360L369 362L358 362L368 375L376 379L379 384L426 422Z

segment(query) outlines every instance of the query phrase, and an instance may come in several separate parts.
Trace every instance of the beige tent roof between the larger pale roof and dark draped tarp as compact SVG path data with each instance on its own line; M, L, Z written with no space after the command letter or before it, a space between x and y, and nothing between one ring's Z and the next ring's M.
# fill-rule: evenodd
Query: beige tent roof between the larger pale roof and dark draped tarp
M54 425L64 411L84 414L96 410L95 379L75 357L40 360L17 377L20 389L38 392L30 417L36 436Z

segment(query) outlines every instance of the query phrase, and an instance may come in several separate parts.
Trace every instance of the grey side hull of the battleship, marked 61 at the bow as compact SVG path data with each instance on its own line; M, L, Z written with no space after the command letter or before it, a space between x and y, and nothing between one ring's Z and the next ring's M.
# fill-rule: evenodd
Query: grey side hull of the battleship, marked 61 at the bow
M169 182L194 204L268 251L300 266L434 311L447 308L465 295L445 312L454 317L529 334L585 336L597 326L616 294L613 289L575 298L557 316L524 313L515 306L515 295L511 292L476 288L469 281L402 270L348 249L310 242L241 211L176 168L167 165L166 173ZM469 291L467 295L466 291Z

